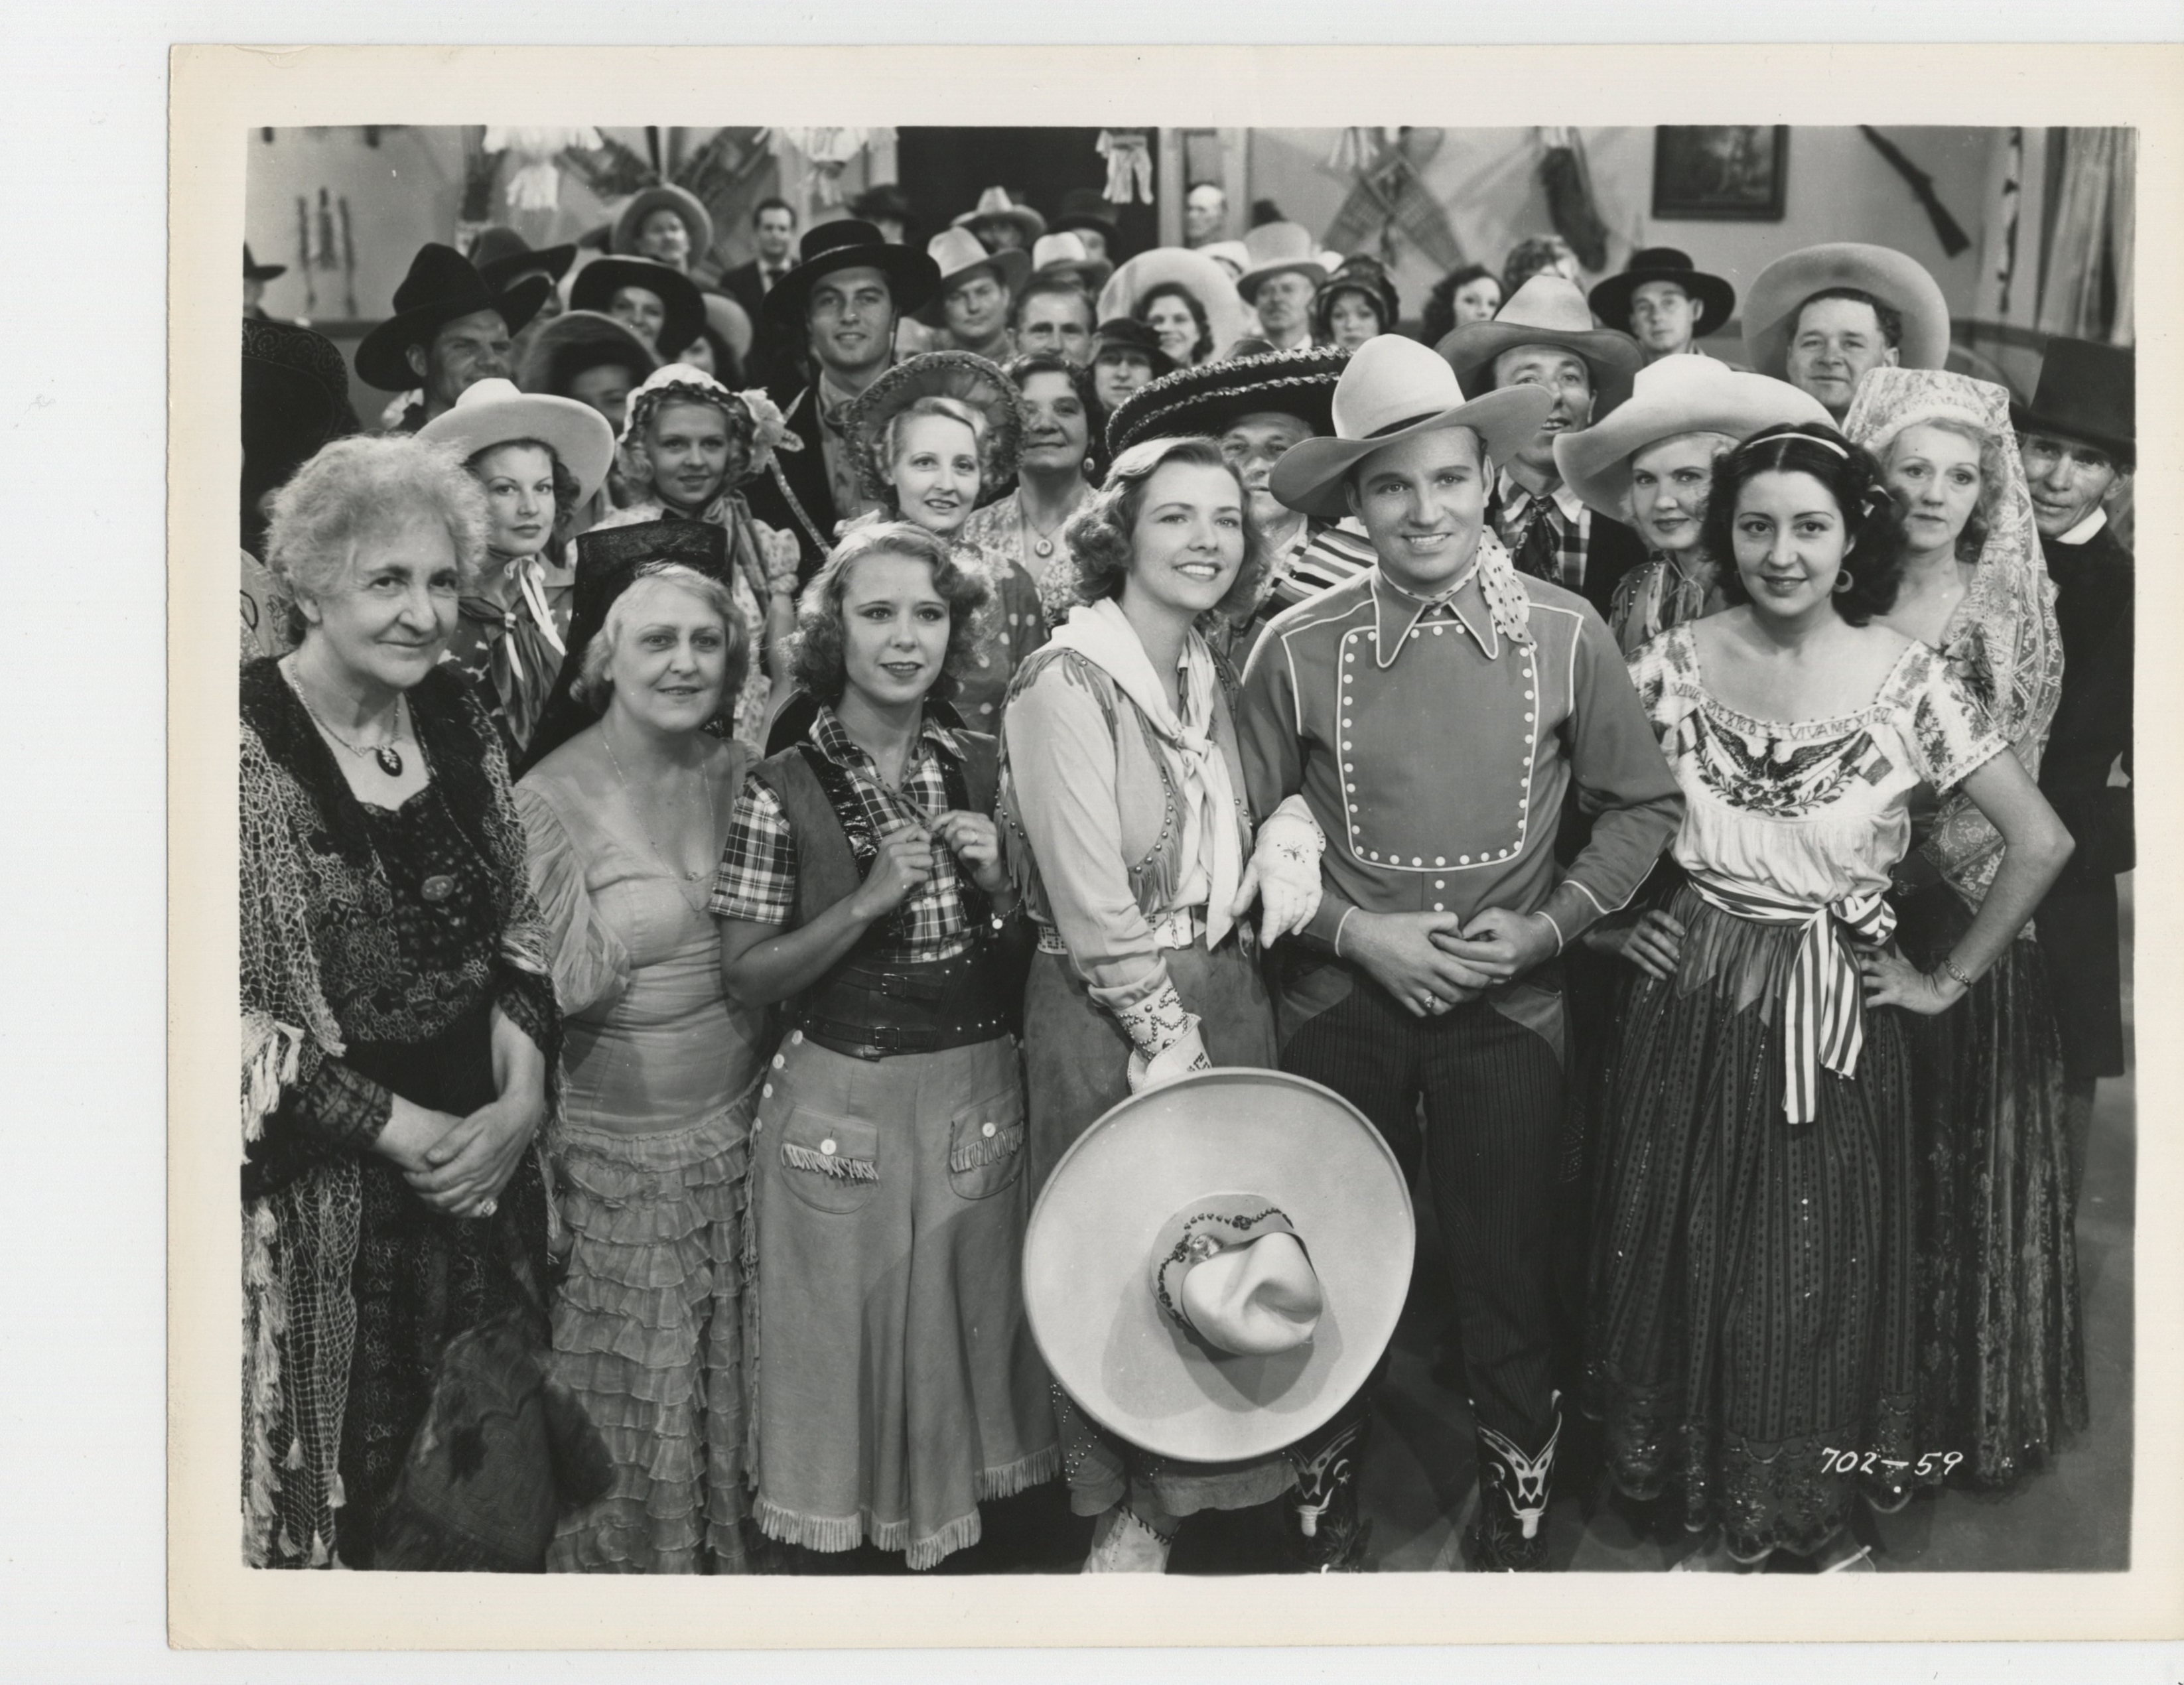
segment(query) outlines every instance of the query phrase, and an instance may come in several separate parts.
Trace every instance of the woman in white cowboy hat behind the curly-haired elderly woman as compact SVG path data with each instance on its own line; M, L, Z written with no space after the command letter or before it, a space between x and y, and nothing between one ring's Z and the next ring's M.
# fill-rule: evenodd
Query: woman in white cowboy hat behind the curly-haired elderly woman
M509 760L531 742L561 672L577 513L614 463L614 432L585 404L478 380L417 430L446 445L485 487L485 559L456 605L450 659L476 681Z

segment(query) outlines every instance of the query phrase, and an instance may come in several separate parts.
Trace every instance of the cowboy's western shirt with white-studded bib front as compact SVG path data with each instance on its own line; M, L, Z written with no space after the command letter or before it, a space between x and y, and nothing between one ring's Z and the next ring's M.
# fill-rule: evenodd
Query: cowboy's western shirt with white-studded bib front
M1599 613L1518 581L1531 644L1479 578L1428 602L1378 567L1278 616L1251 650L1238 736L1251 810L1304 792L1328 836L1306 934L1345 912L1546 912L1564 941L1629 901L1684 797ZM1555 862L1570 786L1592 838Z

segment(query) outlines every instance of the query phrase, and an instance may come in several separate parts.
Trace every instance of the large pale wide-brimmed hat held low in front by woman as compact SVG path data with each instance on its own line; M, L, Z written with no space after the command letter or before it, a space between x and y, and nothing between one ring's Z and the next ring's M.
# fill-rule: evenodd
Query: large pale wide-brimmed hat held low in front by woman
M1123 1100L1061 1155L1024 1233L1024 1312L1101 1427L1236 1462L1356 1397L1413 1246L1402 1170L1356 1107L1282 1072L1197 1072Z

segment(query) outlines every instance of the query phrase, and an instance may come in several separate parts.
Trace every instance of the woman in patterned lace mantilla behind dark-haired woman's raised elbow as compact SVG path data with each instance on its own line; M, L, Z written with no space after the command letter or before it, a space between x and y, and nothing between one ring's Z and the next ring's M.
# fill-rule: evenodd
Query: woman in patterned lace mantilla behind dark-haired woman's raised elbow
M1937 369L1874 369L1845 432L1904 509L1887 624L1942 653L2027 775L2062 694L2062 635L2009 393ZM1898 939L1933 967L1994 884L2003 838L1959 790L1896 867ZM1918 1443L1957 1478L2007 1486L2086 1425L2062 1041L2027 925L1961 1006L1911 1026L1924 1137Z

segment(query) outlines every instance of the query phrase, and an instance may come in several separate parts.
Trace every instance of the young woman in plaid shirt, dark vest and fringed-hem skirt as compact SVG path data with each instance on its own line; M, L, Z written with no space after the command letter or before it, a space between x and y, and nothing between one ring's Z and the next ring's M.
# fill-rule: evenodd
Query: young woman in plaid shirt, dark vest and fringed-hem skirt
M911 522L834 548L797 624L810 731L751 770L712 893L729 995L788 1026L751 1172L758 1523L919 1569L1059 1467L1018 1262L994 740L928 707L974 659L985 594Z

